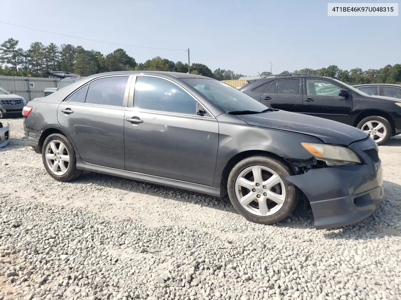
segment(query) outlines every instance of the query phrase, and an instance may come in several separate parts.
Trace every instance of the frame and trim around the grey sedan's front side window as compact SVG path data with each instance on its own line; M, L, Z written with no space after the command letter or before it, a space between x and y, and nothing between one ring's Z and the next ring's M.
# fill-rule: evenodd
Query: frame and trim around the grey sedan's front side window
M198 99L195 98L194 95L192 95L186 88L184 88L183 86L181 86L180 84L177 84L176 82L174 82L173 80L170 80L170 78L166 78L166 77L162 77L162 76L157 76L157 75L148 75L148 74L137 74L134 75L131 82L131 88L130 88L130 92L129 92L129 101L128 101L128 107L129 108L134 108L134 102L135 102L135 85L136 85L136 81L138 79L138 77L155 77L155 78L160 78L162 80L166 80L176 86L178 86L179 88L181 88L184 92L186 92L186 94L188 94L190 97L192 97L192 99L195 100L196 102L196 107L198 107L198 105L202 106L206 112L207 115L204 116L200 116L198 115L196 112L194 114L185 114L185 113L181 113L181 112L165 112L165 111L160 111L160 110L151 110L151 109L145 109L145 108L138 108L136 107L135 109L138 109L140 111L146 111L146 112L158 112L158 113L162 113L162 114L172 114L172 115L180 115L180 116L196 116L199 118L213 118L215 119L215 116L213 116L213 114L207 109L207 107L205 107L205 105L203 105L201 102L198 101Z

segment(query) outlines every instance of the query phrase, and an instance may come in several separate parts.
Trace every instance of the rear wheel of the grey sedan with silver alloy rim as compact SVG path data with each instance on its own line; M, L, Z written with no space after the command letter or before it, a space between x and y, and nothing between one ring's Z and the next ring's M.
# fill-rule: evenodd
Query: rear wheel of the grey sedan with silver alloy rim
M75 151L66 136L51 134L43 142L42 160L46 171L57 181L70 181L81 175L77 170Z

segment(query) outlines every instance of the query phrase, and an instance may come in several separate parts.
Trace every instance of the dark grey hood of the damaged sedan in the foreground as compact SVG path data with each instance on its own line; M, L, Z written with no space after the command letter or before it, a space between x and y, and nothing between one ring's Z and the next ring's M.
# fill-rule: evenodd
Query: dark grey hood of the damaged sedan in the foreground
M284 110L238 117L252 126L307 134L328 144L350 145L369 136L358 128L340 122Z

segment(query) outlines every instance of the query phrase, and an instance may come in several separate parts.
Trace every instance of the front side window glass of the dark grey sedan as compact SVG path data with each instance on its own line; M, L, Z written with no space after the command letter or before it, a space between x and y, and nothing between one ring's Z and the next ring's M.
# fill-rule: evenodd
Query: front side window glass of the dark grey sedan
M150 76L138 76L134 107L161 112L196 113L196 101L187 92L168 80Z

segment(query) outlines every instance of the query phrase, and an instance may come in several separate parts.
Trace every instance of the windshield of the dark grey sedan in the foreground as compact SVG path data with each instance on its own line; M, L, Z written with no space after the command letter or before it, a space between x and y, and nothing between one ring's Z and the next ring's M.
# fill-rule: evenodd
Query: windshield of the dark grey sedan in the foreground
M225 112L262 112L268 107L236 88L213 79L181 78Z

